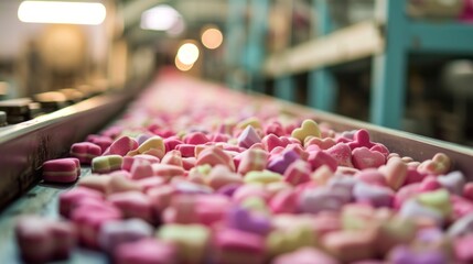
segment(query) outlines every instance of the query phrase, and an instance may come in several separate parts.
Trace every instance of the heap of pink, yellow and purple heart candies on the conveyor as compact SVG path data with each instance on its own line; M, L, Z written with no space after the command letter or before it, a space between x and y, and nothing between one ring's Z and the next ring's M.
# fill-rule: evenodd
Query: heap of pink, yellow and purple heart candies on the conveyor
M473 262L473 183L447 155L416 162L175 76L158 86L44 164L50 183L77 180L78 163L93 175L60 196L66 220L19 220L24 260L77 241L114 263Z

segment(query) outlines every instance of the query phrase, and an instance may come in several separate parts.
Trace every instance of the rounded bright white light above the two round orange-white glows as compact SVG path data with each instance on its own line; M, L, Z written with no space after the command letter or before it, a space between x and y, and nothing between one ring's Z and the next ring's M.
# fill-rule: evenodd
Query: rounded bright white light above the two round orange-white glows
M141 29L155 31L173 31L182 28L181 14L168 4L160 4L141 14Z

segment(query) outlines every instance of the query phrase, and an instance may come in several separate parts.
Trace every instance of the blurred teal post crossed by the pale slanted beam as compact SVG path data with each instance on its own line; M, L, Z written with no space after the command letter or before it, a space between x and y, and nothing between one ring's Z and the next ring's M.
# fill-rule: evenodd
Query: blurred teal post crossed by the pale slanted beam
M329 0L313 0L313 29L316 30L316 36L329 34L332 30ZM325 111L335 110L337 98L337 87L332 73L324 67L313 69L309 73L308 105L313 108Z

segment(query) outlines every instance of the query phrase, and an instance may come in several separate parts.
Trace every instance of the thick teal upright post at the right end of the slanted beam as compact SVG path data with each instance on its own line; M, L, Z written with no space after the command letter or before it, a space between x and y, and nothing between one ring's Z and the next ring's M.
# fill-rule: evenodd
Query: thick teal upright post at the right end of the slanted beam
M406 0L386 1L385 52L375 55L372 70L370 121L399 129L404 117L408 30Z

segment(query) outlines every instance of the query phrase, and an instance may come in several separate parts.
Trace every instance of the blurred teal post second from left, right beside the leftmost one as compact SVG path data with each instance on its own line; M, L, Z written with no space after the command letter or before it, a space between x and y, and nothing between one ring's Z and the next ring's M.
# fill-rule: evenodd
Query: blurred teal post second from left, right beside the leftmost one
M245 65L248 70L249 88L264 91L261 65L265 58L265 40L267 34L269 0L250 0L250 23ZM229 51L232 52L232 51Z

